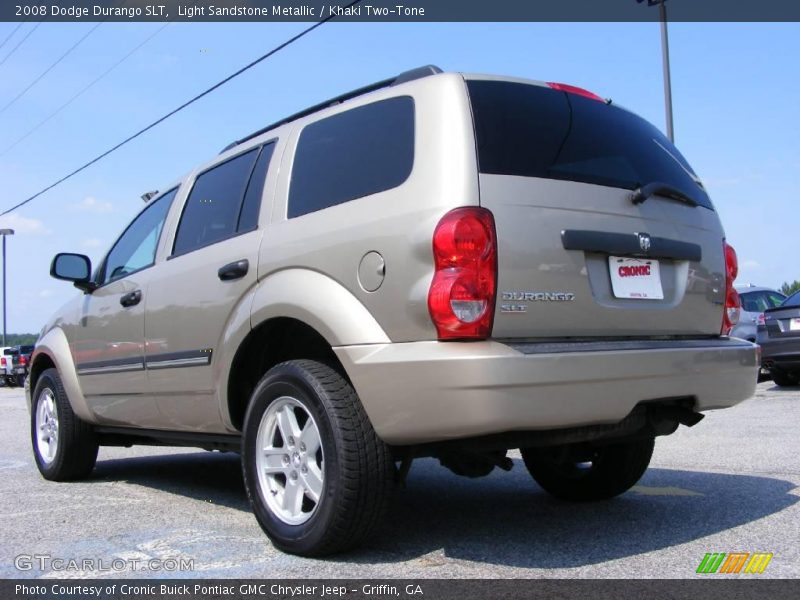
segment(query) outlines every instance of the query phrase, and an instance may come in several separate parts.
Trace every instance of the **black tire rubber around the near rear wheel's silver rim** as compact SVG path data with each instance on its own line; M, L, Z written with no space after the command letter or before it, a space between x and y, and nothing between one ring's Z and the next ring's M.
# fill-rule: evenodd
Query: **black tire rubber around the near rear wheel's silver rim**
M276 489L280 489L280 479L277 479L277 488L276 479L272 484L264 484L256 463L256 442L262 420L264 428L269 430L269 416L265 418L269 407L276 403L270 411L274 414L276 407L282 402L285 405L287 398L299 403L301 417L303 410L313 417L324 457L324 460L319 459L322 492L310 516L302 517L307 520L299 524L287 523L270 508L265 496L271 494L271 501L278 502L275 498L279 494ZM270 445L275 443L273 440ZM280 440L278 447L283 445ZM295 454L292 454L292 461ZM251 396L244 423L242 468L253 512L273 544L291 554L324 556L355 547L380 523L393 482L394 463L347 380L325 364L293 360L270 369ZM297 473L290 475L296 481ZM282 495L285 495L288 478L284 477L283 481ZM266 489L269 485L273 488ZM302 498L303 506L309 501L306 495Z

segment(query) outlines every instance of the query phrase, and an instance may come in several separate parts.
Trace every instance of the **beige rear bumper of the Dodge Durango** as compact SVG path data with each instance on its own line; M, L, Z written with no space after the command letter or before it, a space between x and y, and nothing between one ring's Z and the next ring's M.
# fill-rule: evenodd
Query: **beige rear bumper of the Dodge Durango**
M640 402L725 408L755 392L744 340L507 345L414 342L336 348L378 435L404 445L616 423Z

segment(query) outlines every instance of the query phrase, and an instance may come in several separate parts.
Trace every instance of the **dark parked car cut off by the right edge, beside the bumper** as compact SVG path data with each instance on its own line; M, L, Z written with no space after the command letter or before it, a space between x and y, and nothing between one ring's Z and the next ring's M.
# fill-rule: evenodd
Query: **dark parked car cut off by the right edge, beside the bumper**
M764 312L758 343L772 380L783 387L800 385L800 292Z

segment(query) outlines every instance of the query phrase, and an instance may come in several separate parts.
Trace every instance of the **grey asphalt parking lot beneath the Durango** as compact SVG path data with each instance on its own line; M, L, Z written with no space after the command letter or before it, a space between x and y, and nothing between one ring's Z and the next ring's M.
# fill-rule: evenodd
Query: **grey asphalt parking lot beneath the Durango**
M91 479L50 483L31 457L21 389L0 389L0 410L4 578L154 575L15 566L37 554L106 568L115 558L193 563L160 577L686 578L705 553L735 551L774 553L758 577L800 577L800 388L771 381L744 404L659 438L640 484L608 502L553 500L518 455L510 473L475 480L415 462L379 535L329 560L270 545L235 455L103 448Z

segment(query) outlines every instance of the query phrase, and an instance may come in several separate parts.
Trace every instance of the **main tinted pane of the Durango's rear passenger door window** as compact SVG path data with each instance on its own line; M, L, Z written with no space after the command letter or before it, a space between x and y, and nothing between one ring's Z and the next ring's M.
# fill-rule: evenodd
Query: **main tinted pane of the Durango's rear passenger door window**
M184 254L236 233L245 189L259 149L240 154L197 177L183 208L172 254Z

